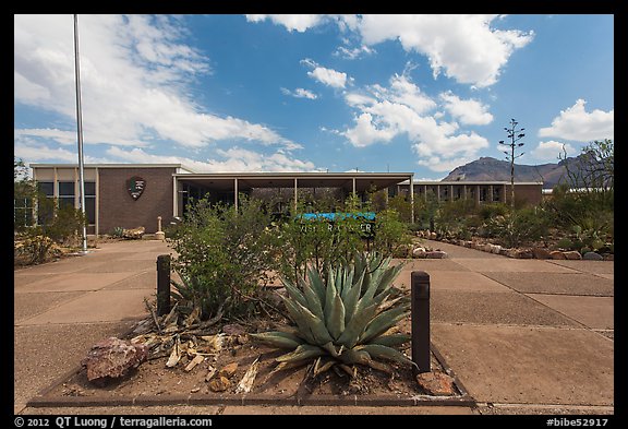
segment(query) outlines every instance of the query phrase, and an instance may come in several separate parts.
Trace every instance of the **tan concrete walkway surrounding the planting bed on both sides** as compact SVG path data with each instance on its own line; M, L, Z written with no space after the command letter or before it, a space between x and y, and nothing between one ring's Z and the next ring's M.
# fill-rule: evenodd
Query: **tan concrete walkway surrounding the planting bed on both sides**
M14 273L14 413L20 414L613 414L614 263L512 260L426 241L445 260L431 276L432 343L479 407L27 408L99 339L147 315L156 291L153 240L99 245L86 255Z

